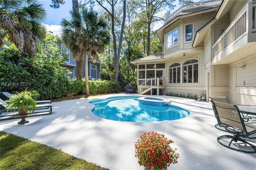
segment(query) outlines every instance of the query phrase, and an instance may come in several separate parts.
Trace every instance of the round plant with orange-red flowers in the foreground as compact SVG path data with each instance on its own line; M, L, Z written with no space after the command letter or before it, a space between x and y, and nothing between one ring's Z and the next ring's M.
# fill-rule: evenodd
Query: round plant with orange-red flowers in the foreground
M156 132L143 133L135 145L135 157L140 166L148 169L165 169L171 164L176 164L179 154L176 148L170 147L173 141Z

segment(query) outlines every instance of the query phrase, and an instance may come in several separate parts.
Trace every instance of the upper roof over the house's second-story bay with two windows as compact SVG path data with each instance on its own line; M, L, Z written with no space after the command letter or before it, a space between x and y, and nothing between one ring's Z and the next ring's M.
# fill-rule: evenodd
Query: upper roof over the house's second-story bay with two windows
M198 2L193 3L189 5L183 5L178 10L174 11L171 15L167 16L167 18L164 20L164 25L167 24L172 19L176 18L177 16L186 15L190 13L195 13L199 11L208 10L210 8L218 7L220 6L222 1L220 0L213 0L213 1L207 1L207 2Z

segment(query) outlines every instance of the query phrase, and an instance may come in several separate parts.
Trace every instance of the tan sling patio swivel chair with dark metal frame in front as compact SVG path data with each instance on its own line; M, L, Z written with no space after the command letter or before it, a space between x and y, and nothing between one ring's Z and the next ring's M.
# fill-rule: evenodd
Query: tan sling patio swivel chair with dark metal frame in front
M256 139L256 125L246 124L239 108L233 104L222 103L219 101L211 101L215 108L215 117L219 126L225 128L225 131L233 135L221 135L217 138L220 145L245 153L256 153L256 146L249 143L248 139ZM228 144L225 144L225 140ZM234 142L234 143L233 143ZM231 144L237 148L231 147ZM245 150L243 147L248 147L251 150Z

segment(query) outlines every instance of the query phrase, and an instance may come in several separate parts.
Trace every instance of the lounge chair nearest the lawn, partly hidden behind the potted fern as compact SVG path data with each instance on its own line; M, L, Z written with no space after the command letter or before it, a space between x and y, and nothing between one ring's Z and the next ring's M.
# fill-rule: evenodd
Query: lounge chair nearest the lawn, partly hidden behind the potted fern
M9 120L12 118L19 118L18 109L7 111L8 104L0 99L0 120ZM37 104L34 113L31 116L49 115L52 114L52 104Z

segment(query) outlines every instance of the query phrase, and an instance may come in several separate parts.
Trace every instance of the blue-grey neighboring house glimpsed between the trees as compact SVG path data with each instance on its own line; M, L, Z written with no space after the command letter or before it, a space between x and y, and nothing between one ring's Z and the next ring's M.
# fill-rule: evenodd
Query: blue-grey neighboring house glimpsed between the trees
M50 34L53 35L52 32L50 32ZM61 48L62 52L66 51L66 53L68 54L68 60L65 61L65 63L63 63L63 66L66 67L71 72L67 76L69 76L70 78L76 78L76 60L73 58L73 54L71 53L69 48L61 44L61 41L58 41L57 44ZM85 60L85 57L83 56L82 58L83 78L85 78L84 60ZM101 63L99 61L96 63L93 63L92 58L88 57L88 77L90 80L100 79L100 65Z

